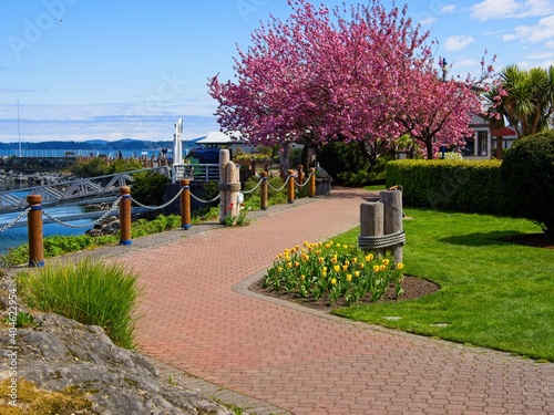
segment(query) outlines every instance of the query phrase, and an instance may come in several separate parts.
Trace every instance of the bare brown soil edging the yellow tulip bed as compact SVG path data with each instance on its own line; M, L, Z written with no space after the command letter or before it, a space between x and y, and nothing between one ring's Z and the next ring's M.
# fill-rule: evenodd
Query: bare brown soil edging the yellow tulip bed
M261 282L263 279L255 282L253 286L250 286L250 290L264 295L293 301L298 304L321 311L331 311L339 307L346 305L343 299L337 300L331 305L327 300L302 299L298 294L287 294L285 291L274 291L270 288L263 288ZM382 303L382 302L412 300L435 292L440 289L440 287L437 283L422 278L404 276L404 279L402 281L402 289L403 289L402 295L399 299L397 299L394 284L391 284L389 287L389 290L377 302ZM368 301L368 299L361 299L358 303L368 304L370 302Z

